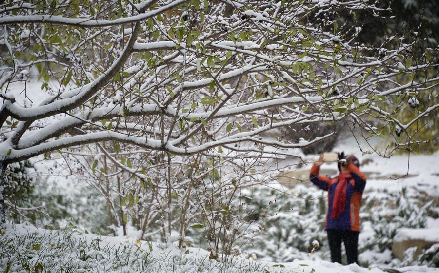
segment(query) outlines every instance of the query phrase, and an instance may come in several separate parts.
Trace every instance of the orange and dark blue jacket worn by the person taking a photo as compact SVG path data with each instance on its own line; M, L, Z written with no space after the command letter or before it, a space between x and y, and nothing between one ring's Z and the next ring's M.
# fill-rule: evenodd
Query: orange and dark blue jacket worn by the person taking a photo
M330 217L332 214L335 190L339 184L339 178L320 176L319 166L313 165L311 168L309 175L311 182L320 189L328 192L328 211L326 214L325 230L339 229L360 231L359 208L364 187L366 186L366 176L364 176L359 168L352 163L348 164L346 168L349 170L351 177L348 178L348 184L346 186L345 208L339 218Z

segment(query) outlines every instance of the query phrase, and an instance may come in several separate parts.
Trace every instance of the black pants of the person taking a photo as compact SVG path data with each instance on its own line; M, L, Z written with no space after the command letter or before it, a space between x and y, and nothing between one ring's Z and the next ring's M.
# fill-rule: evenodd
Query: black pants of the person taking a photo
M348 264L358 264L359 232L350 230L327 230L331 261L341 264L341 241L344 242Z

